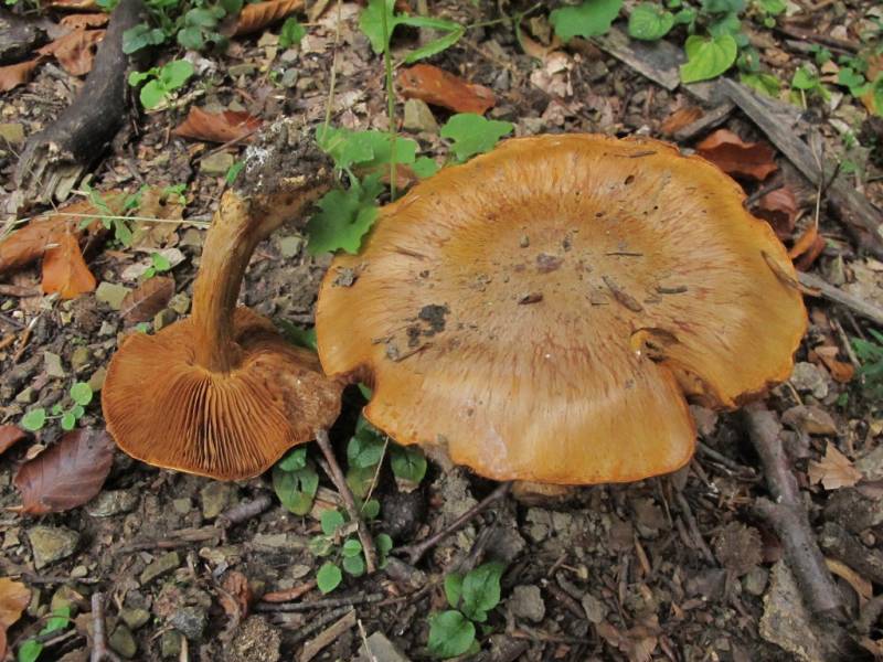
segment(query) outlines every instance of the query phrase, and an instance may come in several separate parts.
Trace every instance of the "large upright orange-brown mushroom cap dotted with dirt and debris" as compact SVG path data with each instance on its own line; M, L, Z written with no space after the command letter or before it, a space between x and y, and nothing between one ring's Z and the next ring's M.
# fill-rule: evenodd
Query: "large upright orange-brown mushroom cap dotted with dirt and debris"
M630 481L691 457L687 397L732 408L787 378L794 275L735 182L653 140L513 139L382 210L317 309L365 415L497 480ZM768 264L769 263L769 264ZM339 287L351 270L355 280Z

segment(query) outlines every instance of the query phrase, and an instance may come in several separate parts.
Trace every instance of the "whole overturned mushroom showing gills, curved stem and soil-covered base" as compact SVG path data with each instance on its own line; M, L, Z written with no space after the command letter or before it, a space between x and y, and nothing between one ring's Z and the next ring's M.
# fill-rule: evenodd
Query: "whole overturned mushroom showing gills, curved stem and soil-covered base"
M227 191L205 239L193 313L156 335L134 333L102 389L107 429L130 456L222 480L251 478L340 412L342 385L318 359L286 342L269 320L237 308L255 246L300 215L330 184L326 160L288 149L252 150L243 185ZM270 158L291 160L289 170ZM286 172L283 177L281 172Z

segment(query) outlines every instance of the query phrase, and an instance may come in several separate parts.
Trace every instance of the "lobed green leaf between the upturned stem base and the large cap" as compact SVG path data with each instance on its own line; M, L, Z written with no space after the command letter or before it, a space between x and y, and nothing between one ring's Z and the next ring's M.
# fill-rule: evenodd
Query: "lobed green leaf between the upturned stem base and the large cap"
M359 253L362 237L377 217L374 202L383 190L379 175L369 175L362 185L353 183L347 191L334 189L319 201L320 212L307 223L310 255L342 248Z

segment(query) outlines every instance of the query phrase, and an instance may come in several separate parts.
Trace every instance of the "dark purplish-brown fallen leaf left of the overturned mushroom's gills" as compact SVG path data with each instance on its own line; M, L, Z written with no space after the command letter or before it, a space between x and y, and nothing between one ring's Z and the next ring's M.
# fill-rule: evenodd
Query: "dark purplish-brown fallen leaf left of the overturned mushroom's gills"
M15 487L26 515L61 513L102 491L114 463L114 440L104 430L78 429L21 466Z

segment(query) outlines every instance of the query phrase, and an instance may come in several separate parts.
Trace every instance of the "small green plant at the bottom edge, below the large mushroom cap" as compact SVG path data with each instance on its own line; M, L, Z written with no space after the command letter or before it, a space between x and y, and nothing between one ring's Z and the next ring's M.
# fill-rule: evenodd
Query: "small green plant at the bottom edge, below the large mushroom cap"
M478 652L476 623L486 622L488 612L500 602L504 569L503 564L490 562L466 575L445 577L445 597L451 609L429 616L429 654L446 659Z

